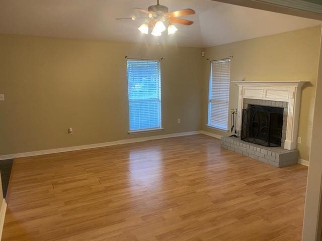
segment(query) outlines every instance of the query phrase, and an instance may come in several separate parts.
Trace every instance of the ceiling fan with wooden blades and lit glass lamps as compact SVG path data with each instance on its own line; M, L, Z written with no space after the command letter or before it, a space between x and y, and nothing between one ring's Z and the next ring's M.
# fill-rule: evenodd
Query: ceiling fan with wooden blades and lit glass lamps
M187 16L195 14L196 12L192 9L183 9L175 12L169 13L169 9L166 6L159 5L159 0L156 0L156 5L152 5L145 9L133 8L134 10L147 14L147 17L132 17L132 18L122 18L116 20L126 20L126 19L145 19L145 23L142 24L138 30L142 34L149 34L149 31L153 36L161 36L162 33L167 29L168 26L168 34L174 34L178 31L175 24L183 24L183 25L192 25L193 21L178 19L178 17Z

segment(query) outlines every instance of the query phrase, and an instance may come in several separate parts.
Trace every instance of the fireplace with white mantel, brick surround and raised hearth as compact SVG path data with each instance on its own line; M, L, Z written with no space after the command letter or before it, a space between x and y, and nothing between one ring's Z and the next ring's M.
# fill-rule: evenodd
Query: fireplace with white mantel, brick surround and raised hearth
M284 167L297 163L297 131L301 88L307 81L233 81L239 86L237 134L238 138L223 137L222 147L267 164ZM280 147L264 147L249 139L240 139L243 126L243 109L251 106L282 109ZM245 117L245 116L244 116ZM280 120L281 121L281 120ZM247 141L245 141L247 140ZM260 144L260 145L259 145Z

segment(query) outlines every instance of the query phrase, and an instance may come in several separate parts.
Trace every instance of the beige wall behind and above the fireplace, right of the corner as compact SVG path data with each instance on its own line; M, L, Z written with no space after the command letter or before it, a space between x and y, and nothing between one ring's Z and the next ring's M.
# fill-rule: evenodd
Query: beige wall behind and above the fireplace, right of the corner
M308 80L302 91L298 136L300 158L309 160L312 136L314 95L319 58L320 27L302 29L272 36L207 48L206 58L231 60L231 80ZM209 61L204 60L202 128L219 135L229 135L207 128ZM238 88L230 84L230 108L237 108ZM230 127L230 124L229 124Z

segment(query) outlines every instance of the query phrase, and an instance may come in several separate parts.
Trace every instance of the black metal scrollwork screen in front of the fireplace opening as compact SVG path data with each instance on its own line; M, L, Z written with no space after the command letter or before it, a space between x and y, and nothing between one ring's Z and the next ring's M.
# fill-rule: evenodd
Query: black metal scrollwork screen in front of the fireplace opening
M280 147L283 131L283 108L249 105L243 109L241 140L266 147Z

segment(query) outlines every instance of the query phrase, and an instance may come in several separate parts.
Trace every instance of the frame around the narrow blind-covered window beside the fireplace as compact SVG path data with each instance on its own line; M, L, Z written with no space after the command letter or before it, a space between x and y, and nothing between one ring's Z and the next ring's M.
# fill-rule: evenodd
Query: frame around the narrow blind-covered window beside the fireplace
M220 61L229 61L229 84L228 84L228 104L227 104L227 129L225 128L221 128L218 126L214 126L210 124L211 121L211 103L212 103L212 83L213 83L213 79L212 79L212 73L213 73L213 63L214 62L220 62ZM231 58L225 58L225 59L218 59L218 60L212 60L210 61L210 76L209 76L209 89L208 89L208 118L207 118L207 124L206 126L212 129L216 129L219 131L223 131L223 132L228 132L229 131L229 101L230 101L230 74L231 74Z

